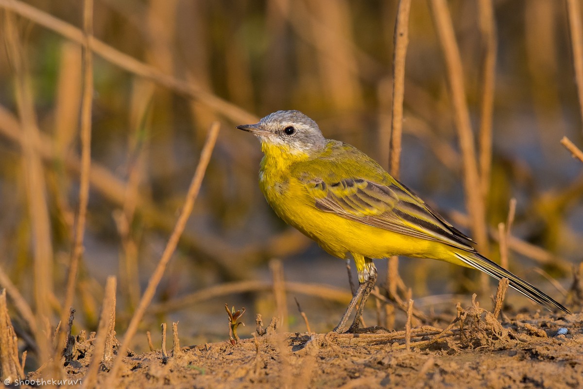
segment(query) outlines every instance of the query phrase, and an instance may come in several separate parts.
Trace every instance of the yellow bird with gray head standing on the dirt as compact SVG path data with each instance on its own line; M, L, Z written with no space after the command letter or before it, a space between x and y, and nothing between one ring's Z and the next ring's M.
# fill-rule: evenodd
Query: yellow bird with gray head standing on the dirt
M377 279L373 259L403 255L474 268L549 310L570 311L541 290L479 254L473 241L380 164L348 143L326 139L297 110L276 111L256 124L238 125L261 142L259 187L273 211L329 254L352 255L359 288L333 331L359 330Z

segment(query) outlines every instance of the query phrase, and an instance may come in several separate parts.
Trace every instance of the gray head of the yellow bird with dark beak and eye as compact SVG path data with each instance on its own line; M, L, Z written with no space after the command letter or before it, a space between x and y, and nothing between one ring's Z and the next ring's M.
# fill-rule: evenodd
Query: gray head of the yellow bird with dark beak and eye
M287 146L292 153L320 150L326 144L316 122L300 111L277 111L257 124L238 125L237 128L257 135L261 143Z

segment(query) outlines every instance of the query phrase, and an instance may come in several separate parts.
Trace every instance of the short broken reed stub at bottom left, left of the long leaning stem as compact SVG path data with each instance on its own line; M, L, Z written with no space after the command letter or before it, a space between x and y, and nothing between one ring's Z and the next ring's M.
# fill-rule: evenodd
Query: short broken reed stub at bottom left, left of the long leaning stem
M115 276L108 276L106 281L105 294L103 296L103 306L101 307L101 315L99 317L99 325L97 326L97 336L93 342L93 356L91 362L89 362L89 367L87 367L87 373L83 377L83 388L93 388L95 387L97 380L97 372L99 366L101 365L103 356L106 353L106 342L109 335L108 328L111 328L112 324L115 325L115 318L111 316L112 310L115 310L115 288L117 286L117 280ZM112 387L112 386L109 386Z

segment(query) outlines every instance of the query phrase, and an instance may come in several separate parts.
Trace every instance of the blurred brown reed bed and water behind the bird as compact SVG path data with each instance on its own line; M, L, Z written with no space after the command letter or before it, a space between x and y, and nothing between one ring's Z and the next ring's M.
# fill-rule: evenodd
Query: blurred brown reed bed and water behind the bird
M35 250L43 251L47 319L54 328L79 206L83 2L2 1L5 26L8 5L16 8L10 17L25 72L16 75L6 48L9 34L2 31L2 286L8 279L36 312L40 278L34 274L41 270L34 269L33 258ZM345 262L275 216L258 188L259 143L234 127L272 111L301 110L327 138L352 143L388 167L396 6L342 0L94 1L93 34L100 42L93 56L92 178L74 333L95 330L105 279L116 275L116 328L118 336L124 334L214 121L221 130L201 193L136 335L135 351L147 349L145 331L157 334L164 321L180 321L183 345L227 339L225 303L247 308L241 337L253 331L256 313L265 324L282 314L290 330L305 331L294 298L311 330L333 328L350 297ZM477 1L448 6L477 139L485 52L480 10ZM500 260L497 225L506 222L510 199L516 198L508 266L562 302L572 265L582 259L583 239L581 163L559 143L568 136L583 144L567 8L556 1L496 0L493 9L497 55L486 197L491 239L480 250ZM409 40L401 181L469 233L458 133L427 2L412 3ZM156 72L135 71L132 58ZM29 110L19 106L20 79L30 81ZM30 155L23 152L24 123L38 131L33 149L43 164L34 185L25 179ZM31 207L39 193L41 207ZM35 229L38 223L44 229ZM382 274L386 261L377 261L377 267ZM442 262L402 258L400 272L416 307L427 314L455 311L455 302L468 304L479 290L476 272ZM287 282L279 284L283 308L276 304L274 277ZM308 286L315 289L304 293ZM384 276L378 286L382 293ZM493 293L494 282L490 286ZM479 299L489 306L489 294ZM540 309L515 292L508 303L515 310ZM376 324L373 305L365 316L368 325ZM19 314L12 318L26 333Z

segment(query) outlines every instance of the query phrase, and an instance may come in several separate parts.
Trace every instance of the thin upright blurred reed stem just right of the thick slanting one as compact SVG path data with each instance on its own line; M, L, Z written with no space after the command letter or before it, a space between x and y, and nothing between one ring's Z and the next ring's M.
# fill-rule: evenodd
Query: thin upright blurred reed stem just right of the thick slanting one
M479 176L482 197L486 199L490 188L492 163L492 116L494 111L494 79L496 78L496 53L498 44L492 0L479 0L478 8L484 57L482 65L482 106L480 107Z

